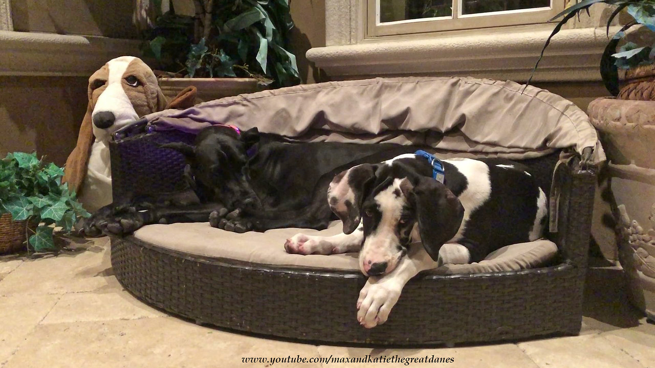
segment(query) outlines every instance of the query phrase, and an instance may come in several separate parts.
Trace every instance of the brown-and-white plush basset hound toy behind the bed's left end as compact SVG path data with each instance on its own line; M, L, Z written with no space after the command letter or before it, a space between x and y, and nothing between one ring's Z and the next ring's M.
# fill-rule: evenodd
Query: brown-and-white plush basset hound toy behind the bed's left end
M167 101L152 69L134 56L109 60L88 79L88 107L63 181L95 212L111 203L109 141L113 132L143 115L195 104L191 86Z

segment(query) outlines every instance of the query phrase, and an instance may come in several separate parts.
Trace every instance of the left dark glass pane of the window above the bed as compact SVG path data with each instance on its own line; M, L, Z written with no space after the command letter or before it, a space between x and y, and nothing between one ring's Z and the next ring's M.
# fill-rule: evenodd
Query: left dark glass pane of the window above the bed
M434 18L438 16L451 16L453 14L453 3L451 0L378 1L380 3L380 22Z

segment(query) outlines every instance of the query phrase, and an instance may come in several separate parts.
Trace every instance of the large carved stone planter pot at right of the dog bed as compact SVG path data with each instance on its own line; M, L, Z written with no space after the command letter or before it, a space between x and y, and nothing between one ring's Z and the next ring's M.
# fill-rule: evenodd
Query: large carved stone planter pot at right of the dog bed
M588 114L607 154L628 295L655 321L655 101L599 98Z

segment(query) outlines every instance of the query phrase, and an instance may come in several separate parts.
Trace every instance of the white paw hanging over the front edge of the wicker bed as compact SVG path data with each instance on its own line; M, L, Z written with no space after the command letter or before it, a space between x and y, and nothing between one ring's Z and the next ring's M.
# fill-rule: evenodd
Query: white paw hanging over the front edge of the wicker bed
M369 278L357 299L357 320L366 328L386 322L398 302L402 285L390 278Z

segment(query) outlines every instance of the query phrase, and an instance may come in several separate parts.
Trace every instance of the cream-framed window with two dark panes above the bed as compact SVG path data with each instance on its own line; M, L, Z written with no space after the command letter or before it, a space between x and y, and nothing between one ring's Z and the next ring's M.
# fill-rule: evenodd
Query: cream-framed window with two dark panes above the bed
M367 0L369 37L545 23L565 0Z

